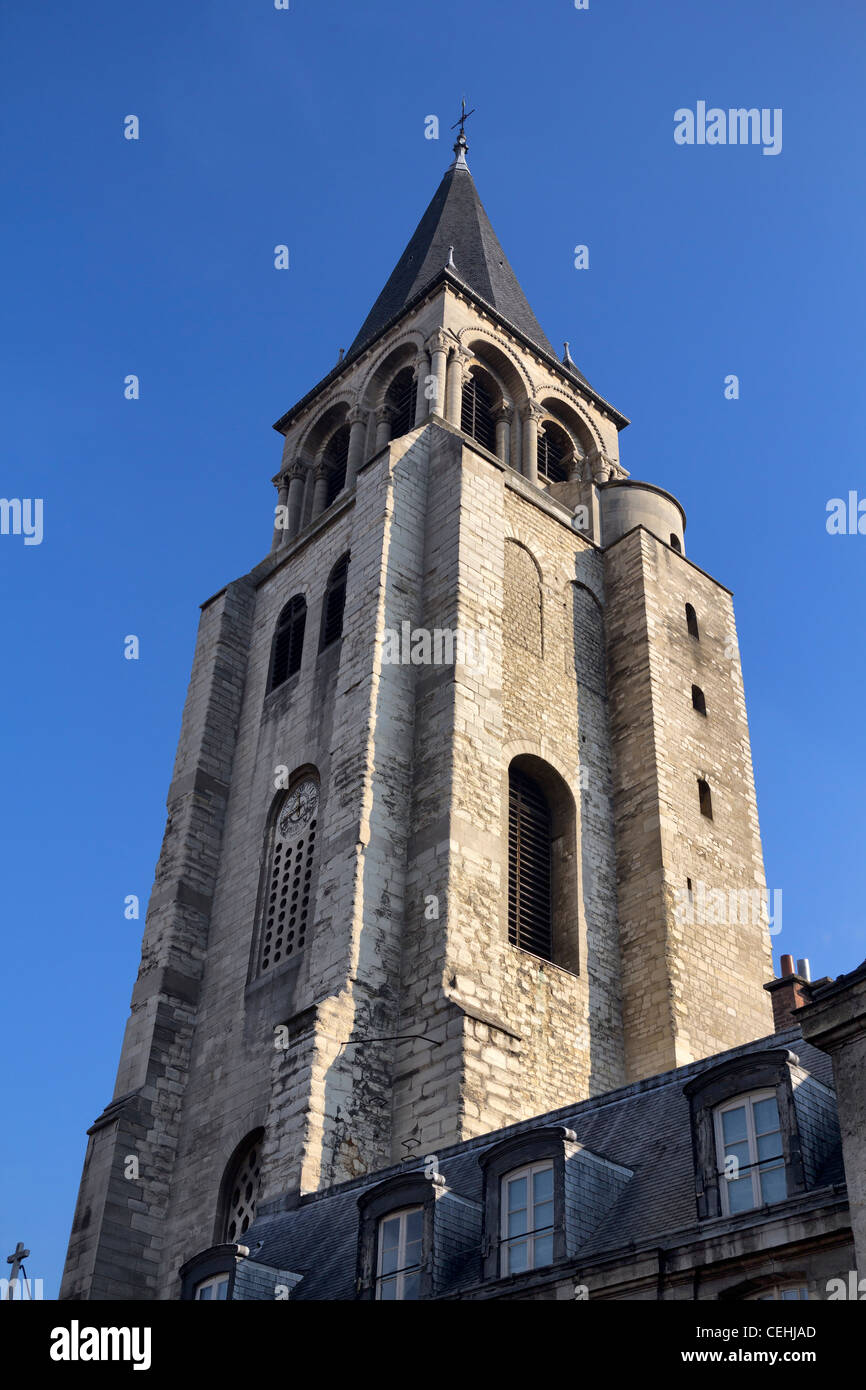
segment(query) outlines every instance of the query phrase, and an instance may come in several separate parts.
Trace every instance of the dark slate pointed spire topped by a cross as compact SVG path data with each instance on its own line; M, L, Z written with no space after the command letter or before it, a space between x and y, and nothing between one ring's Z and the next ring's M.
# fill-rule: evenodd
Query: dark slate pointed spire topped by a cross
M455 145L455 163L434 193L346 357L352 357L375 338L445 267L525 338L556 357L481 206L466 152L466 136L460 131Z

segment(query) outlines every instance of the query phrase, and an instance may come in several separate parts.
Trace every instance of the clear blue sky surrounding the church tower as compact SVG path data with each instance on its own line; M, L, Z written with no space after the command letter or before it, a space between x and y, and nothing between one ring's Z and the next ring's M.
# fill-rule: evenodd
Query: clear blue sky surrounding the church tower
M0 1255L24 1240L56 1293L197 605L268 549L271 423L354 336L463 92L541 324L735 592L777 951L858 965L866 535L826 505L866 496L862 0L13 0L1 46L0 492L44 499L44 538L0 537ZM781 107L781 154L674 145L698 100Z

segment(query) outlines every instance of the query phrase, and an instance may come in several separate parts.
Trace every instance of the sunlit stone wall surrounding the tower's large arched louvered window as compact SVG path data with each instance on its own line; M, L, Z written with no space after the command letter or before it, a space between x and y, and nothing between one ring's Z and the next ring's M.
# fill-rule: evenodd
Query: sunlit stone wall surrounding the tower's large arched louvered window
M524 496L507 486L505 470L481 450L446 427L428 428L439 443L431 457L424 624L481 634L485 662L484 670L432 669L418 684L400 1031L414 1023L413 1031L442 1041L420 1038L398 1051L395 1156L406 1152L403 1143L435 1151L621 1079L603 670L581 699L574 657L571 582L599 585L599 557L566 520L539 512L528 489ZM509 557L516 541L521 557ZM510 599L506 575L521 584ZM578 972L507 941L506 788L517 752L549 760L563 776L575 801L577 845L594 865L592 874L578 873ZM432 919L431 898L439 912Z

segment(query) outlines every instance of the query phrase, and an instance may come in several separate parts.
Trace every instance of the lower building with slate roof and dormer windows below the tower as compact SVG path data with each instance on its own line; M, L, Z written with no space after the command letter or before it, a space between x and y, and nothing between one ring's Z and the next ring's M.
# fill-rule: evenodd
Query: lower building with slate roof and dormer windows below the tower
M188 1261L181 1297L866 1298L838 1073L803 1031L794 1023L424 1163L265 1202L242 1243ZM855 1065L844 1062L852 1079ZM726 1180L731 1155L741 1162Z

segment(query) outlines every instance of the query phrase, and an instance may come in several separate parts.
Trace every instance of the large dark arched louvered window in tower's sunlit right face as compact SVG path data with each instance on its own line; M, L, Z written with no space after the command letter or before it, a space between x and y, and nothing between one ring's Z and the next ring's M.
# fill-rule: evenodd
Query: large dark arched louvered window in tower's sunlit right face
M509 774L509 941L553 959L550 810L531 777Z

